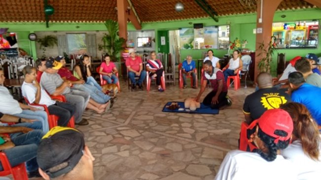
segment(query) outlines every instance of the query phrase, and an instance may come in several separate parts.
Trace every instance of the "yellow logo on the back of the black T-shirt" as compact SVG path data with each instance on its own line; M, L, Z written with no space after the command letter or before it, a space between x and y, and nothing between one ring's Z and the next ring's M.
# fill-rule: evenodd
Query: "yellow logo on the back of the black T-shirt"
M264 108L269 109L278 109L281 104L286 103L286 99L284 96L280 96L279 93L265 93L263 94L265 97L261 97L262 105Z

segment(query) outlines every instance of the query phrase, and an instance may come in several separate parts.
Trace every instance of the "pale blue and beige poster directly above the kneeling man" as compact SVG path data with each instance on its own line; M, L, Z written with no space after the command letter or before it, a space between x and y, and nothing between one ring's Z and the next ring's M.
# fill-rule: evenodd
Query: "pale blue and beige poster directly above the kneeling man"
M213 48L217 49L218 47L218 28L212 27L205 27L204 28L204 48Z

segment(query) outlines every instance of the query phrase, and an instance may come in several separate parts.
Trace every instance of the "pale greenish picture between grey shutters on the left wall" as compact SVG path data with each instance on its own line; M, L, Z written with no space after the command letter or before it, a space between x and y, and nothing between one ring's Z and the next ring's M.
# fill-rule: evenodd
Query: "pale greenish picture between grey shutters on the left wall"
M70 54L86 54L86 33L67 34L68 51Z

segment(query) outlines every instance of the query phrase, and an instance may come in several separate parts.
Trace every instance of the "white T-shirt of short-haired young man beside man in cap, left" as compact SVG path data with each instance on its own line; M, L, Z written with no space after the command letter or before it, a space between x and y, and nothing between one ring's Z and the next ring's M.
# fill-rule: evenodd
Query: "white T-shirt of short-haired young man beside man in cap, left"
M32 83L23 82L21 87L22 95L28 99L30 103L34 103L36 100L37 88ZM55 104L56 101L52 100L48 93L41 87L39 104L44 104L47 107Z

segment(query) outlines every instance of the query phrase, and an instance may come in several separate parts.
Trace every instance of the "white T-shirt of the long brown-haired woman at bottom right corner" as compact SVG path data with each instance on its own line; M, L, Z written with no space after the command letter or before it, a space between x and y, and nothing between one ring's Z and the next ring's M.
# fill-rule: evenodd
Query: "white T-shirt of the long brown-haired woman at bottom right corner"
M285 150L282 150L281 154L291 160L299 180L321 179L321 155L319 155L319 161L311 159L304 153L300 140L293 141Z

